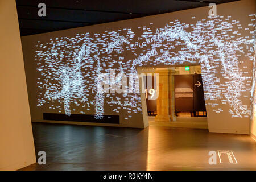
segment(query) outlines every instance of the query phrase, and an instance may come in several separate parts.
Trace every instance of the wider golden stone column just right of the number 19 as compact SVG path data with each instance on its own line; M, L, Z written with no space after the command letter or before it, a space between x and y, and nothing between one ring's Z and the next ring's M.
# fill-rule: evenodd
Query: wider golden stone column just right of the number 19
M159 74L157 115L155 121L170 121L169 115L169 70L156 70Z

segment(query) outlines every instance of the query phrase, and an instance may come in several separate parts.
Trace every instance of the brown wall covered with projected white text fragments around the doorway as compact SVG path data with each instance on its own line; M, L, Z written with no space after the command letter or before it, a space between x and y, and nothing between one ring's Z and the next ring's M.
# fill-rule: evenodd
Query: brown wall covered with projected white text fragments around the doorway
M33 47L36 64L37 101L31 107L67 115L94 114L96 119L120 115L122 121L129 122L134 114L142 115L141 95L129 92L134 90L100 92L100 74L107 73L109 85L117 85L122 81L118 77L133 75L138 67L200 64L207 112L215 116L225 113L230 119L250 118L255 14L244 11L250 21L244 24L232 15L207 17L208 8L202 10L206 18L187 16L185 22L166 14L164 19L159 16L161 23L129 27L131 23L124 21L120 24L125 28L119 29L101 26L87 32L83 27L72 34L69 30L68 34L60 31L54 36L24 37L22 43ZM24 53L26 59L28 53Z

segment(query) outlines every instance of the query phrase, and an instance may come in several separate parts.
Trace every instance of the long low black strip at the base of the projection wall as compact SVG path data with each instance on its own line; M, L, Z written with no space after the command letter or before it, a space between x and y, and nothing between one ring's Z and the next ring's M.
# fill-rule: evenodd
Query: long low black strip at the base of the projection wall
M44 120L52 121L77 121L77 122L97 122L97 123L111 123L119 124L119 115L104 115L102 119L95 119L93 114L56 114L43 113Z

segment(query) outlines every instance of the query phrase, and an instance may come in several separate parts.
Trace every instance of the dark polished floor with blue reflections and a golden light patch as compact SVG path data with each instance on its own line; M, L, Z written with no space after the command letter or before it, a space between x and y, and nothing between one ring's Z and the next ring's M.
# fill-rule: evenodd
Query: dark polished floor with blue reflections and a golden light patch
M22 170L256 170L256 142L248 135L205 129L147 129L32 123L36 153L46 165ZM209 151L232 150L237 164L208 163ZM38 158L38 156L37 156Z

